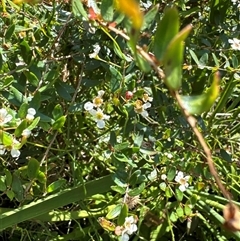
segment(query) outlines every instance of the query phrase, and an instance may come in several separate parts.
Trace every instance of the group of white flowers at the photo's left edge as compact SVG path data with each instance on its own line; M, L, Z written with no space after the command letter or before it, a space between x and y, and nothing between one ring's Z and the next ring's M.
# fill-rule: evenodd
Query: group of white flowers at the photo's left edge
M27 110L27 115L26 119L31 122L34 119L34 116L36 114L36 110L33 108L29 108ZM4 130L4 127L6 125L9 125L10 121L13 119L13 116L9 113L9 111L5 108L0 109L0 126ZM15 120L18 125L21 124L21 120ZM17 127L16 127L17 128ZM3 155L6 150L10 150L10 154L13 158L18 158L21 154L19 149L22 147L24 144L24 141L26 138L28 138L31 135L31 130L29 129L24 129L22 131L22 139L21 142L18 141L14 135L10 135L6 131L3 131L3 135L9 135L11 137L11 144L6 145L4 143L0 143L0 155Z

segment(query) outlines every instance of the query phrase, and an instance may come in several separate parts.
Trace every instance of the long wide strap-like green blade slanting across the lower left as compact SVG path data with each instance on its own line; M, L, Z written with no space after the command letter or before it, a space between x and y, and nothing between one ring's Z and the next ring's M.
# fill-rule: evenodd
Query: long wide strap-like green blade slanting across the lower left
M43 197L37 201L22 205L14 211L7 211L0 214L0 231L15 226L23 221L36 219L40 215L68 205L70 203L78 202L79 200L87 200L94 194L106 193L110 191L110 186L113 185L112 177L104 176L102 178L78 185L73 188L66 189L62 192ZM22 188L20 185L16 188L19 191Z

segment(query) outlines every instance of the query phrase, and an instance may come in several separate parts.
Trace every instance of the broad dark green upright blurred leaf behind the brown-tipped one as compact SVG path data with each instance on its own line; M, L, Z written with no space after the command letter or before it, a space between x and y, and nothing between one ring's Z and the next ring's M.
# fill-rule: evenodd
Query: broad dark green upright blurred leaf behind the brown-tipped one
M154 36L153 52L159 61L162 60L170 41L178 33L179 24L177 9L167 8Z

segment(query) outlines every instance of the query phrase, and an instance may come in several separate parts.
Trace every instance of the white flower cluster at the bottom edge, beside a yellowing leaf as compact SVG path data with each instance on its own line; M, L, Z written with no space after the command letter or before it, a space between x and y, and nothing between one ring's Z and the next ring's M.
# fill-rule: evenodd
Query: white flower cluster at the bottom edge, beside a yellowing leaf
M137 219L133 216L126 217L123 226L118 226L115 229L115 234L120 236L119 241L128 241L130 235L137 231Z

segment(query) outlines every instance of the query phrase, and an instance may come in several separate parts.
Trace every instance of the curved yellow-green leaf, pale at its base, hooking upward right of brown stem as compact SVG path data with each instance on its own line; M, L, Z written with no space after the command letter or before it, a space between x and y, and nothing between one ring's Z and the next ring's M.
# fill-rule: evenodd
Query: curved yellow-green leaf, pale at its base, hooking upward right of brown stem
M205 111L208 111L219 94L219 73L216 72L213 75L213 82L211 87L206 93L193 96L180 96L183 108L191 115L200 115Z

